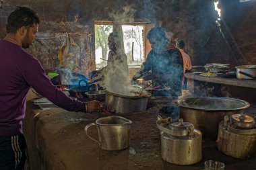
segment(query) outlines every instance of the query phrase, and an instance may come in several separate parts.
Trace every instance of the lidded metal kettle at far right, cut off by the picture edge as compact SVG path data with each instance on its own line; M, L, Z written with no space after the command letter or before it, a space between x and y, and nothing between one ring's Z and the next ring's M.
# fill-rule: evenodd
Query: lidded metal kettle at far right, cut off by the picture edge
M253 157L256 153L255 120L243 114L225 116L224 121L219 124L217 141L218 150L230 157L238 159Z

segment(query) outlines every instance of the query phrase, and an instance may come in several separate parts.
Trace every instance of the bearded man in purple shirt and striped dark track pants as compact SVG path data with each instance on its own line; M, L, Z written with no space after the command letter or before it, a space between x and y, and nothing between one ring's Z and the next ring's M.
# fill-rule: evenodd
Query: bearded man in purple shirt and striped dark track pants
M17 7L7 19L7 35L0 40L0 169L23 169L26 142L22 120L26 95L32 87L40 95L71 112L96 112L98 101L83 103L67 97L46 77L40 62L23 48L34 42L40 19L28 7Z

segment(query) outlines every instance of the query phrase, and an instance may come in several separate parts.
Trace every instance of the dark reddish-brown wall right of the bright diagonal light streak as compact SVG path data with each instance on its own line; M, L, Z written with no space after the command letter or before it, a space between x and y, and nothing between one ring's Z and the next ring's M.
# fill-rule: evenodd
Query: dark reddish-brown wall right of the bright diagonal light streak
M245 65L256 65L256 1L221 1L223 21L241 50Z

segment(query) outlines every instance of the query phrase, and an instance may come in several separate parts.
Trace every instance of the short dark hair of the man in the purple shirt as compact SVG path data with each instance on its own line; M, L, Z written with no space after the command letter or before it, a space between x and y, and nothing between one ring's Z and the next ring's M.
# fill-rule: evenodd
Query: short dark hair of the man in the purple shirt
M34 10L28 7L16 7L8 16L6 32L15 33L22 26L30 27L39 23L40 19Z

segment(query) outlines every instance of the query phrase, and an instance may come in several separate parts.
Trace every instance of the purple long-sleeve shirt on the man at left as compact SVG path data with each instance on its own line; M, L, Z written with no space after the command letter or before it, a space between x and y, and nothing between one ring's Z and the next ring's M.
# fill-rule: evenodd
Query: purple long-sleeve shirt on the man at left
M36 58L22 47L0 40L0 136L22 134L30 87L65 110L86 110L84 103L67 97L51 83Z

